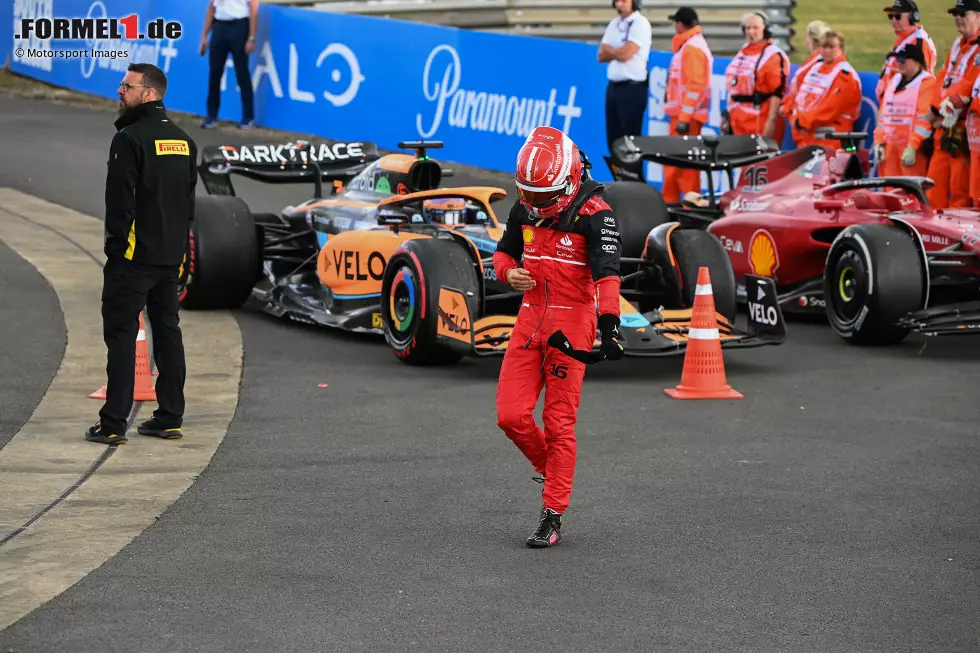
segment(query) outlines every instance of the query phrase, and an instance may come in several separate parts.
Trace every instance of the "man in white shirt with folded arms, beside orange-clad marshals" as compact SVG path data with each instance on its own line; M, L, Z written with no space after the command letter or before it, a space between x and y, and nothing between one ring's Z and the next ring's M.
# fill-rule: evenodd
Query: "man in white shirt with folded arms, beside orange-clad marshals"
M608 63L606 77L606 141L643 133L646 113L647 62L653 33L650 21L640 13L640 0L615 0L619 14L613 18L599 44L599 62Z

